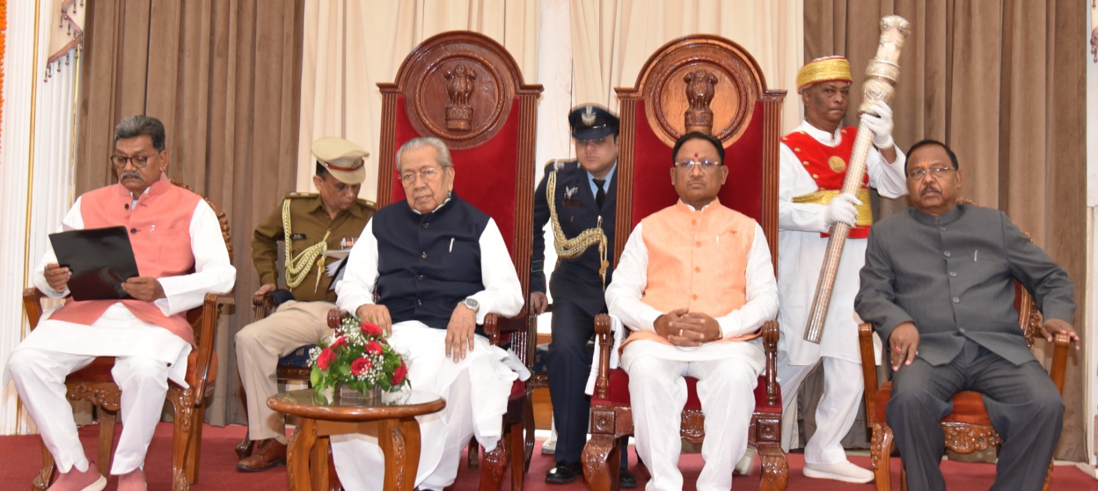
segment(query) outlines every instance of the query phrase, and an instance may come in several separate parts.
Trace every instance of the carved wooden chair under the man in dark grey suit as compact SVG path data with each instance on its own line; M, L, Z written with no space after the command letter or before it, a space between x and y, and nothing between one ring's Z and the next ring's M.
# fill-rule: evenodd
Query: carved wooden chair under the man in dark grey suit
M972 202L959 199L962 203ZM1038 310L1033 295L1015 282L1015 309L1018 310L1018 322L1026 335L1026 344L1032 346L1037 336L1041 335L1041 312ZM884 340L887 341L887 340ZM877 387L876 355L873 351L873 326L862 323L858 327L858 342L862 352L862 377L865 380L865 419L872 433L870 456L873 461L873 472L876 475L877 491L892 489L892 469L889 455L893 450L893 431L885 420L885 407L892 398L892 380ZM1061 392L1064 391L1064 370L1067 367L1067 349L1071 339L1065 334L1056 334L1053 340L1052 365L1049 376ZM888 369L886 367L886 369ZM953 412L942 420L942 431L945 432L945 448L959 454L972 454L989 447L998 447L1002 439L995 429L984 408L984 398L979 392L965 390L953 396ZM1044 478L1044 490L1049 490L1052 481L1052 463ZM900 489L907 491L907 468L900 460Z

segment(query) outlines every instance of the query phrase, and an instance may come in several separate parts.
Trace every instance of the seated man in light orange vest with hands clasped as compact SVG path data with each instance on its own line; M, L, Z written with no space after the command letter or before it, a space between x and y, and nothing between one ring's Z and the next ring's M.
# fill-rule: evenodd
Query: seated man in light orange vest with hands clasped
M705 412L697 489L728 490L764 364L753 333L777 313L777 284L762 227L717 199L728 178L720 140L690 133L672 155L679 203L632 230L606 304L632 331L621 367L637 455L652 476L647 489L683 489L680 421L690 376Z

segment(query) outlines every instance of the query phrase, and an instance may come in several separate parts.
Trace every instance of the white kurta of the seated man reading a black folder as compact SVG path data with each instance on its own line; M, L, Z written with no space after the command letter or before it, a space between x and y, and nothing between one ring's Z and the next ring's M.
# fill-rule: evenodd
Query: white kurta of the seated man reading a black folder
M83 216L80 214L80 198L77 198L61 220L61 230L82 228ZM194 207L190 235L195 272L159 278L166 297L154 304L165 316L195 308L202 305L206 293L228 292L236 281L236 269L228 260L221 224L204 199L199 199ZM34 286L49 298L63 298L69 293L68 288L55 292L46 283L46 264L56 262L53 246L47 241L46 252L35 267L32 279ZM49 320L51 313L53 310L43 317L37 328L15 350L34 347L77 355L152 357L169 364L168 379L187 387L184 375L190 344L167 329L138 320L121 302L111 306L100 321L92 326ZM111 321L105 322L105 319ZM4 384L7 377L5 370Z

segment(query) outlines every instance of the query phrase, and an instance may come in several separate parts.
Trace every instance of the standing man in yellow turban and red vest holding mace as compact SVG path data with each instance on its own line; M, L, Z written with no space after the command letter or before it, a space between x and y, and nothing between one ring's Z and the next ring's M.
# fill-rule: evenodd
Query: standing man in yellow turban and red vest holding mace
M815 59L797 72L797 92L805 121L782 138L777 202L777 286L782 306L777 320L777 378L786 419L797 415L797 390L817 365L824 368L824 393L816 406L816 432L805 444L804 473L810 478L869 482L873 472L851 464L842 438L854 424L862 400L862 367L858 352L854 294L873 221L870 187L899 197L904 189L904 155L893 144L892 110L876 104L861 115L873 132L866 176L858 196L840 193L847 179L858 128L842 126L850 104L850 64L831 56ZM816 283L827 250L827 231L842 221L854 228L842 251L819 344L805 341ZM802 401L804 402L804 401ZM785 436L796 432L786 432ZM788 441L786 441L788 443Z

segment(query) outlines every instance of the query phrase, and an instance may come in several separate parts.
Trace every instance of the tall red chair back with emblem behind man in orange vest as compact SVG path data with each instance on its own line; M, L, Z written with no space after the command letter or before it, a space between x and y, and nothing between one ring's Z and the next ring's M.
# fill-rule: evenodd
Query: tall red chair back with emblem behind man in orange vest
M721 204L762 225L777 260L777 149L785 91L768 90L754 58L714 35L691 35L657 50L632 88L618 88L621 132L615 264L641 219L674 204L671 149L702 130L725 146ZM776 265L776 263L775 263ZM776 266L775 266L776 271Z

